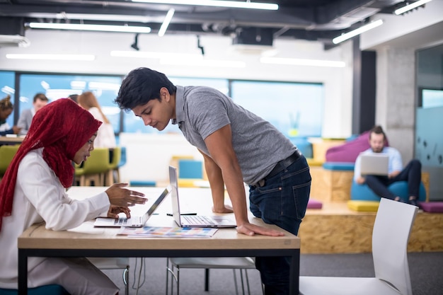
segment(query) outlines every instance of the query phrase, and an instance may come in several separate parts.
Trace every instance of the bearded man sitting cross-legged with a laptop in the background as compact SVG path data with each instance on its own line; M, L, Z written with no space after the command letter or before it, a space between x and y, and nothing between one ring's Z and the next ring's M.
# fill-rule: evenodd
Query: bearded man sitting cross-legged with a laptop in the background
M369 145L371 146L362 154L382 153L389 156L389 174L383 175L364 175L360 173L360 156L355 161L354 180L359 185L366 183L368 187L379 197L386 197L399 202L406 202L401 197L394 195L388 190L389 185L397 181L408 182L409 204L417 206L418 192L421 182L420 161L413 159L403 168L401 154L397 149L385 146L386 134L381 126L374 126L369 132Z

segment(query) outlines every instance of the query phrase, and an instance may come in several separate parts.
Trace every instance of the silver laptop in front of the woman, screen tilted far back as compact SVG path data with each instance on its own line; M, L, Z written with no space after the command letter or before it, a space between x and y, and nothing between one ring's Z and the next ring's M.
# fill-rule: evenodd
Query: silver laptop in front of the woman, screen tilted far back
M163 199L171 192L171 187L166 187L163 192L161 192L160 196L156 199L154 204L149 207L148 211L144 213L142 216L131 216L131 218L126 218L126 216L120 216L119 219L106 218L106 217L98 217L94 222L94 226L128 226L128 227L142 227L144 223L149 219L149 217L154 214L157 207L163 202Z

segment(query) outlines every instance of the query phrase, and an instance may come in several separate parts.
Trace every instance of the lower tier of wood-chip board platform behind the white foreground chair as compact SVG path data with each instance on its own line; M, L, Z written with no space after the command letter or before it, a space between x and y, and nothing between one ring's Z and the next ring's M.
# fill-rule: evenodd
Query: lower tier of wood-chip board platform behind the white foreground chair
M301 222L301 253L370 253L376 212L351 212L345 203L309 209ZM443 251L443 214L419 212L409 252Z

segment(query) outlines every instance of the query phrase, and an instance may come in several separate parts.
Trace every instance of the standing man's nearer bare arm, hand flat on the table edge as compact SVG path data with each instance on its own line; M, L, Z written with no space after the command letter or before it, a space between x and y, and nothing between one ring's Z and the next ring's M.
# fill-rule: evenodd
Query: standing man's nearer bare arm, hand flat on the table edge
M283 233L280 231L265 229L262 226L255 226L249 223L243 175L241 174L240 165L238 164L238 159L232 146L231 125L226 125L210 134L205 139L205 144L214 164L219 167L219 173L222 173L222 178L226 185L226 190L228 190L229 197L231 198L232 207L236 216L237 231L248 236L253 236L255 233L267 236L282 236ZM209 169L212 170L207 171L210 175L214 169L210 167ZM215 174L212 176L209 175L208 178L215 176ZM215 185L219 185L219 183ZM219 197L217 197L217 199L218 198Z

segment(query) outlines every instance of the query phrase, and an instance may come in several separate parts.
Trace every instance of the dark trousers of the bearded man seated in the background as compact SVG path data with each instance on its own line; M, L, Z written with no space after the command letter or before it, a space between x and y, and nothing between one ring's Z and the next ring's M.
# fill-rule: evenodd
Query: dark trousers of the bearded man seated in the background
M408 165L394 178L379 175L366 175L366 184L379 197L386 197L387 199L395 199L394 195L388 190L389 185L397 181L408 182L409 197L414 196L418 199L418 192L420 182L422 181L422 164L418 160L412 160Z

